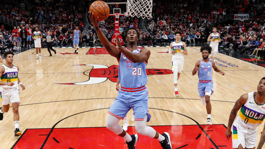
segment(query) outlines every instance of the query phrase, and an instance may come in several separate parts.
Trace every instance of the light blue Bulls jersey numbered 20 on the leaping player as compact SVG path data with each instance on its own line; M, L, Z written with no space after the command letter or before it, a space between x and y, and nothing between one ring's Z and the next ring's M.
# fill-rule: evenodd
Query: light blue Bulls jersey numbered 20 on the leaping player
M127 49L127 48L126 48ZM128 49L127 49L128 50ZM136 49L133 53L139 53ZM133 63L121 53L119 62L119 80L122 87L137 88L147 84L147 74L145 71L147 63Z

